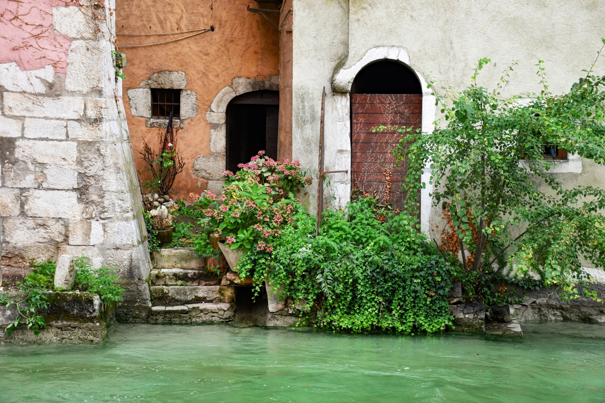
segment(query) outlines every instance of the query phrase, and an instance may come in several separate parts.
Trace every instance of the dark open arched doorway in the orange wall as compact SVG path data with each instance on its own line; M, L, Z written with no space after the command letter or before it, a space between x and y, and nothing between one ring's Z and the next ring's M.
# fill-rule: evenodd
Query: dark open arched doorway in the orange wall
M259 150L277 160L278 91L252 91L239 95L227 106L226 169L238 170Z

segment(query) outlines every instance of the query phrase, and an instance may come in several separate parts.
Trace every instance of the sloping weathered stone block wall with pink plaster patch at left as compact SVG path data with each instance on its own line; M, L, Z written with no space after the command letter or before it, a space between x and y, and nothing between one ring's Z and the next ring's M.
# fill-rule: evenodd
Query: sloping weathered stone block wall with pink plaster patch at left
M118 319L145 320L151 262L111 53L114 0L0 7L11 38L0 44L2 265L60 254L116 265Z

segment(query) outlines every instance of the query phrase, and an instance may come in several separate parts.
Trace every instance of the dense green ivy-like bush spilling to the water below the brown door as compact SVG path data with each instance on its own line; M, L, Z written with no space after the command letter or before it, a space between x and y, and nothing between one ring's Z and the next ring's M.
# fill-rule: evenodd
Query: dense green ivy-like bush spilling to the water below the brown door
M364 332L428 333L451 326L447 297L453 264L417 231L417 218L372 198L327 210L319 236L315 218L299 211L274 237L273 253L250 250L238 265L257 288L266 280L280 297L320 312L319 326Z

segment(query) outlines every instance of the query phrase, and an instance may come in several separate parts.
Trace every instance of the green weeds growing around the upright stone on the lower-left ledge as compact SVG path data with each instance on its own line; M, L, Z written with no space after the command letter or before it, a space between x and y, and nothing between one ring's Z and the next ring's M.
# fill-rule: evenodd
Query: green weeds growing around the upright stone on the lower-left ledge
M67 291L54 289L54 272L57 268L55 262L52 260L36 262L32 259L30 266L33 268L31 273L25 276L23 282L17 283L19 291L25 294L24 298L14 300L9 298L8 293L0 294L0 304L7 307L15 306L17 310L15 321L5 328L9 337L12 330L21 325L32 329L34 335L38 337L40 330L46 326L44 316L40 315L40 312L50 305L47 292ZM122 300L124 290L117 283L117 268L107 266L94 269L90 259L85 256L74 260L74 266L77 267L77 272L73 289L98 294L105 304L117 303Z

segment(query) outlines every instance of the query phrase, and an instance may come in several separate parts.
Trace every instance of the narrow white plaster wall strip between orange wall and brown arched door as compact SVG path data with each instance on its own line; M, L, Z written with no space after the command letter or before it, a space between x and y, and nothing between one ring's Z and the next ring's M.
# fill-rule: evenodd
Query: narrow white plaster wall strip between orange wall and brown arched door
M348 2L294 0L292 16L292 158L301 162L302 169L309 170L313 176L317 174L321 94L325 86L324 169L350 170L350 157L348 161L339 161L338 168L336 164L338 150L348 141L344 138L348 132L344 126L349 123L338 119L338 109L348 109L348 95L335 97L330 84L336 64L347 54ZM346 202L350 174L329 174L328 179L333 188L340 189L341 201ZM317 182L314 182L306 187L301 198L312 214L317 209L316 192Z

